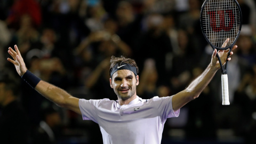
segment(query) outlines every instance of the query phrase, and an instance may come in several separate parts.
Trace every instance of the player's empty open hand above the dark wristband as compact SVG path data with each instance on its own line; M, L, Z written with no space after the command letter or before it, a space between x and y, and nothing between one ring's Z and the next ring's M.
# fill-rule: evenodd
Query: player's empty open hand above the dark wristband
M13 63L13 65L15 66L17 73L22 76L23 74L26 73L26 71L28 70L26 68L25 62L23 61L23 58L21 57L20 51L18 49L17 45L14 45L14 49L15 51L9 47L8 53L12 56L13 59L7 58L8 61L10 61L11 63Z

